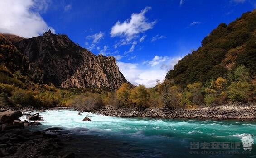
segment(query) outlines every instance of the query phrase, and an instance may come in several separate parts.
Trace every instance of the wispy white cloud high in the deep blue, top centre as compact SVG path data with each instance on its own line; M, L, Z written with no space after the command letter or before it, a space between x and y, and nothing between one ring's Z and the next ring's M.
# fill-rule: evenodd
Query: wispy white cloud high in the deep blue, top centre
M145 7L140 13L131 14L130 19L127 19L123 23L120 21L116 22L111 28L111 37L125 36L126 39L130 41L136 37L136 35L153 28L156 21L149 22L145 17L145 13L150 9L151 7Z

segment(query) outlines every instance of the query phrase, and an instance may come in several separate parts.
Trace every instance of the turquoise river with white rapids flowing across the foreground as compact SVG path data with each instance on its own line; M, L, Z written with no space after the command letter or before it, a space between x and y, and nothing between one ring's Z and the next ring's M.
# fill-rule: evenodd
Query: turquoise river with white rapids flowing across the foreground
M67 150L78 157L256 158L256 121L120 118L72 110L40 112L45 120L32 130L64 128ZM87 116L92 121L82 121ZM21 119L24 119L21 118ZM242 135L252 136L244 150ZM209 149L208 149L209 148Z

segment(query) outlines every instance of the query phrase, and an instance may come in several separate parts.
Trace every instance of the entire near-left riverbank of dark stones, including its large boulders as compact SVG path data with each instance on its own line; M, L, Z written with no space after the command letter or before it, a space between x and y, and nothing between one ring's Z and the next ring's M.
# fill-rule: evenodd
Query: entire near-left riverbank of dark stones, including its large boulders
M28 120L21 121L19 117ZM62 151L63 141L58 134L49 134L56 128L29 131L28 126L41 125L39 113L0 111L0 157L4 158L74 158L74 153ZM57 129L58 130L58 129Z

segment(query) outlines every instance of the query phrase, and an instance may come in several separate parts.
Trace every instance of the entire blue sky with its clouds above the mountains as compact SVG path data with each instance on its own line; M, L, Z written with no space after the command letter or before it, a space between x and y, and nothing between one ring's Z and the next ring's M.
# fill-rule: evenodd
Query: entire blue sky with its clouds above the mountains
M115 56L132 84L152 87L219 23L254 8L256 0L1 0L0 32L67 34Z

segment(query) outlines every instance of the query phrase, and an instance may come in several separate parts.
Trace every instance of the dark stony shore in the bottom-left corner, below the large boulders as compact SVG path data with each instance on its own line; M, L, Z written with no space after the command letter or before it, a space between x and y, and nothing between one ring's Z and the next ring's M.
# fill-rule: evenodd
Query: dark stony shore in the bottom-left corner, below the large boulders
M5 158L75 158L67 157L63 141L57 135L25 129L0 131L0 157Z

